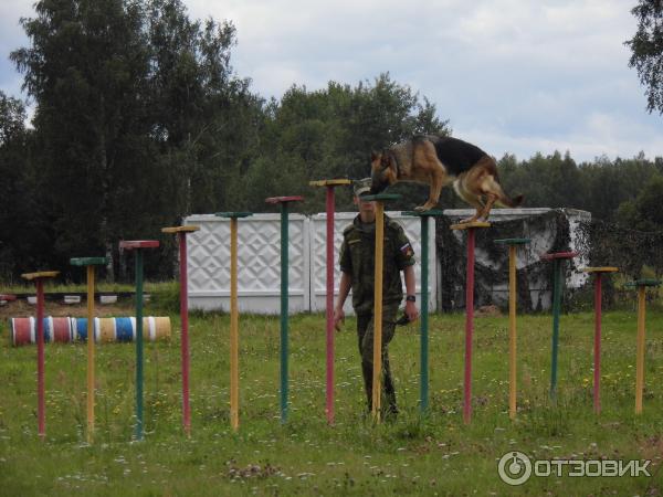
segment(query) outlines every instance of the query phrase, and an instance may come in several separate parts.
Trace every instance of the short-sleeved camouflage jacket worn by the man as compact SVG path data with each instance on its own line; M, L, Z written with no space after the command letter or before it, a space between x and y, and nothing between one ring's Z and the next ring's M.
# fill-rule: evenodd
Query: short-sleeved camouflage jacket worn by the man
M375 298L375 223L365 224L359 215L343 232L340 271L352 281L352 307L357 314L370 314ZM414 251L402 226L385 215L385 260L382 302L400 303L403 284L400 272L414 264Z

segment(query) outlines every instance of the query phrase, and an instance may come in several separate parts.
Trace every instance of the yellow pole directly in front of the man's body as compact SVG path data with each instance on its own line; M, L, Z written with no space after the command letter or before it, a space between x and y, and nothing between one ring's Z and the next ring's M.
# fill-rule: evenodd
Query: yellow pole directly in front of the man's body
M380 421L382 391L382 266L385 253L385 204L376 202L376 276L373 293L373 384L372 415Z

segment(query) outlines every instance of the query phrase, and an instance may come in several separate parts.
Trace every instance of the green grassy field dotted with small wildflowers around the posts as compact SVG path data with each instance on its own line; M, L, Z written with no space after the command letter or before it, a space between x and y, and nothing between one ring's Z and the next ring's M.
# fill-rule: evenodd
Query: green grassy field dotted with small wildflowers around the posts
M146 309L149 313L149 308ZM179 317L172 315L176 331ZM325 422L325 322L291 318L291 411L280 423L278 319L240 319L240 431L229 426L229 318L194 314L192 436L181 432L178 332L146 349L146 440L131 443L134 347L97 348L95 443L85 441L85 347L46 346L46 433L36 435L35 349L0 347L3 495L660 495L663 491L663 314L648 316L644 412L633 414L635 315L603 318L600 416L592 413L593 316L565 315L559 394L548 399L549 316L518 320L517 420L508 419L507 318L475 321L474 415L462 421L464 316L430 321L430 415L419 417L419 332L390 346L401 414L365 413L355 321L336 335L336 424ZM7 324L0 332L7 335ZM497 475L508 451L534 458L652 459L652 477Z

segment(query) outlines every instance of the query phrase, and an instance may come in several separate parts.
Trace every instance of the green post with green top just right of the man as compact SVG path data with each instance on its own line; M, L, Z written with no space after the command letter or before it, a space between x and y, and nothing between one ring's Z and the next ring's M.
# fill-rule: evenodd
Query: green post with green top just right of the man
M429 219L444 215L442 211L408 211L403 215L415 215L421 220L421 341L420 341L420 385L419 385L419 412L425 414L429 404Z

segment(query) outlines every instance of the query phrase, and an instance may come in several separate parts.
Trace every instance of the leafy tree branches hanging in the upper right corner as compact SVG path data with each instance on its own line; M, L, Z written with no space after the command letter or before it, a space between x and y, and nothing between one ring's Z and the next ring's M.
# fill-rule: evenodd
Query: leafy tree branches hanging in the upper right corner
M663 0L640 0L631 13L638 31L625 42L632 51L629 66L645 87L648 110L663 114Z

